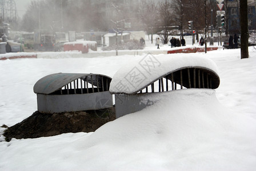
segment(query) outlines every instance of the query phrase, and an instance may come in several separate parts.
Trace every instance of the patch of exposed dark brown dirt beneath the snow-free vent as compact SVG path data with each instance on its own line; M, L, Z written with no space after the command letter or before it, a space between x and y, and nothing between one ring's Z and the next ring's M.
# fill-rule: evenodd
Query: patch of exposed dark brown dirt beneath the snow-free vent
M60 135L69 132L94 132L109 121L115 120L115 108L66 113L34 112L21 123L8 127L3 136L6 141Z

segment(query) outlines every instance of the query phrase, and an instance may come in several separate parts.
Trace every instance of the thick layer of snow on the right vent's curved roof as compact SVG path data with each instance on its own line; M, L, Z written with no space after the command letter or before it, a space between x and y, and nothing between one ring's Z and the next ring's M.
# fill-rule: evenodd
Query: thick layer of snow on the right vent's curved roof
M144 58L127 63L116 74L110 84L111 93L134 94L150 83L182 68L207 68L218 76L216 64L198 54L146 55Z

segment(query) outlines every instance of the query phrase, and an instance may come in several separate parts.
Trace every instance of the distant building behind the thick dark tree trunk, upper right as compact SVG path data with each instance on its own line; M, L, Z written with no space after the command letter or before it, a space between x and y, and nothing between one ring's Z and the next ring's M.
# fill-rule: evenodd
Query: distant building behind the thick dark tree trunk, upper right
M240 18L239 18L239 2L240 0L228 0L226 1L226 16L228 21L229 34L240 32ZM256 1L248 0L248 27L249 30L256 29L256 15L255 7Z

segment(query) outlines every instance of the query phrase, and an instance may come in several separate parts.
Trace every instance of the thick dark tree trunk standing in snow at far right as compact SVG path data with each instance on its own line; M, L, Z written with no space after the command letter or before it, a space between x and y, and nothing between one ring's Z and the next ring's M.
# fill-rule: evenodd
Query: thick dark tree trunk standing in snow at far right
M247 0L240 1L241 59L249 58Z

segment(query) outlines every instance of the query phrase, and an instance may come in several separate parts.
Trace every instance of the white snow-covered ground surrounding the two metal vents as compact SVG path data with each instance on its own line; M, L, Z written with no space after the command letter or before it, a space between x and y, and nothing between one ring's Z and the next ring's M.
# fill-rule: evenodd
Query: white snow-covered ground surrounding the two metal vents
M146 50L156 48L146 45ZM217 64L221 84L215 91L150 95L158 103L91 133L2 141L0 170L255 170L256 51L250 47L249 52L250 58L242 60L240 50L191 54ZM144 56L80 57L0 60L0 125L10 127L37 110L33 86L43 76L94 72L113 77Z

